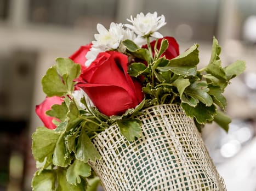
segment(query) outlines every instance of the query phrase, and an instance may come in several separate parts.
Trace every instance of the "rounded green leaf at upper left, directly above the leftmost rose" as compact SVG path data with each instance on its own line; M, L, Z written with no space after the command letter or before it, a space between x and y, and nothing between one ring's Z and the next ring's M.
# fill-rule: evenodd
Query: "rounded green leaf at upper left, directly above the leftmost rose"
M63 96L67 93L67 88L61 80L56 67L50 67L46 74L42 78L42 86L43 92L47 94L47 96Z

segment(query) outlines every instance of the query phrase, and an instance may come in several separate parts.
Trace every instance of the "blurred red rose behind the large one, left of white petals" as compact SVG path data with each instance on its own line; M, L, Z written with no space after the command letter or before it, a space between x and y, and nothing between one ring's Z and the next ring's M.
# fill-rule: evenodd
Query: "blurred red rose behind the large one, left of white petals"
M92 44L88 44L85 46L80 46L79 49L73 53L69 58L72 59L73 62L78 63L82 66L82 68L85 67L84 63L86 63L86 54L92 47Z

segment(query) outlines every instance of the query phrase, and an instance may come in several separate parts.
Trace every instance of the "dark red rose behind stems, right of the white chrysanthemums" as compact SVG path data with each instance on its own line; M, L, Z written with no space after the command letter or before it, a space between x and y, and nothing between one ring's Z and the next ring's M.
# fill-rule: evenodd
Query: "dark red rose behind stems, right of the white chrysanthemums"
M161 55L161 57L166 56L167 59L172 59L172 58L179 56L179 44L173 37L164 37L164 38L158 39L157 45L156 45L157 49L160 49L161 41L163 39L168 40L169 45L168 45L168 48L166 49L166 51L164 51L164 53ZM150 43L153 56L155 53L155 51L154 51L155 44L156 44L156 40L153 40ZM142 47L147 48L147 45L143 45Z

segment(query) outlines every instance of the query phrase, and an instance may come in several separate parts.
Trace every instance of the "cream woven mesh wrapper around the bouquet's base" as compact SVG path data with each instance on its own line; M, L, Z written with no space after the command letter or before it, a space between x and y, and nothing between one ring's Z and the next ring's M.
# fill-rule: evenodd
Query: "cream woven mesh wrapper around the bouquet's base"
M94 139L90 163L106 191L226 190L201 135L178 105L157 105L139 118L142 136L127 141L111 126Z

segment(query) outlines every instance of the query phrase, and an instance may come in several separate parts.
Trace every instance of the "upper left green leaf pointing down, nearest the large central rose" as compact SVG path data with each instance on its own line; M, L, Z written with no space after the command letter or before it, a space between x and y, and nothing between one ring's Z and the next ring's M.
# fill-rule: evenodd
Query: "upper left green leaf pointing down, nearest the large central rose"
M81 65L75 64L70 58L57 58L56 69L62 76L68 91L72 92L75 85L73 80L79 76Z

